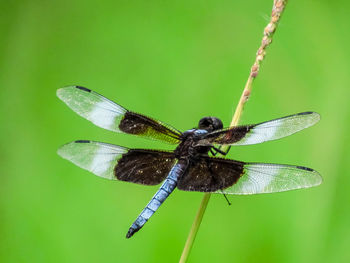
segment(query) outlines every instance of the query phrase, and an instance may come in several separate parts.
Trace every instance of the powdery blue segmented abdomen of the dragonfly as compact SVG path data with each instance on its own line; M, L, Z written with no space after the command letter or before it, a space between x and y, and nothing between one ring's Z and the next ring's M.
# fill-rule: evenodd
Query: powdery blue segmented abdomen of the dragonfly
M168 198L168 196L174 191L177 180L180 175L183 174L186 167L183 163L177 163L170 170L169 175L164 180L162 186L157 193L152 197L151 201L142 210L141 214L136 218L135 222L129 228L126 238L132 237L137 231L139 231L148 219L157 211L160 205Z

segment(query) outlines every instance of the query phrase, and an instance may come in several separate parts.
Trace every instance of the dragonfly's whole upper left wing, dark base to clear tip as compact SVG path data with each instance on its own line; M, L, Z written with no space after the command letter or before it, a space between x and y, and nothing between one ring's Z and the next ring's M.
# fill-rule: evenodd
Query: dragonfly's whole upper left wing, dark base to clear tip
M87 88L79 86L61 88L57 90L57 96L73 111L101 128L167 143L179 143L181 133L170 125L128 111Z

